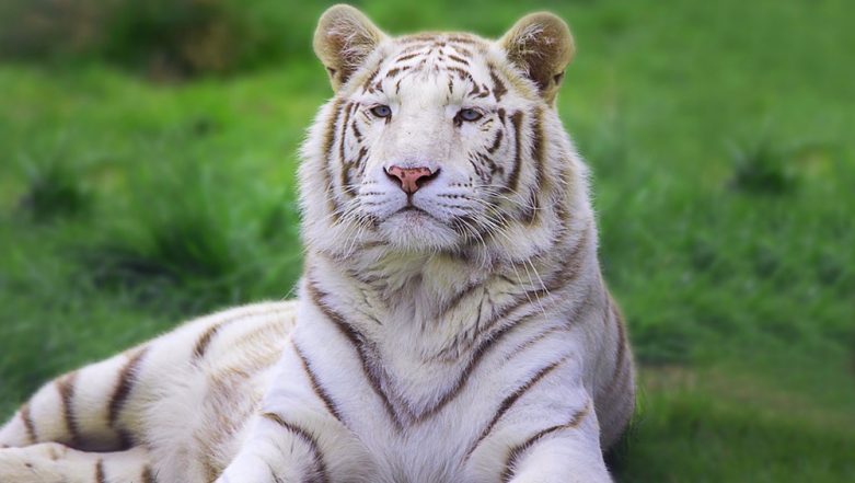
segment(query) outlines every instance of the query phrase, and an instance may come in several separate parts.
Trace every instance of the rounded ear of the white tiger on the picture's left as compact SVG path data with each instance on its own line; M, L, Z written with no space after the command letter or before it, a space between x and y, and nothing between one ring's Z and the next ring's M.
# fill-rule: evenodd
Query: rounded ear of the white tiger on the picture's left
M333 89L347 82L385 34L359 10L333 5L321 15L314 31L314 53L330 73Z

